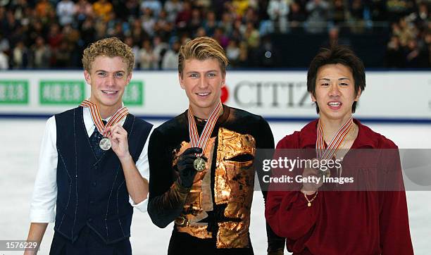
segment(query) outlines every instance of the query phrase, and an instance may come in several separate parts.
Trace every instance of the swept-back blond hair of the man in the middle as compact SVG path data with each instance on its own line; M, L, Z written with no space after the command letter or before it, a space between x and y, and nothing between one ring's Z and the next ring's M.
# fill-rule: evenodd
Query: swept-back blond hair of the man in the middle
M178 54L178 73L182 76L184 63L187 59L206 60L214 58L220 64L222 73L226 73L226 66L229 63L225 50L211 37L196 37L185 45L181 46Z

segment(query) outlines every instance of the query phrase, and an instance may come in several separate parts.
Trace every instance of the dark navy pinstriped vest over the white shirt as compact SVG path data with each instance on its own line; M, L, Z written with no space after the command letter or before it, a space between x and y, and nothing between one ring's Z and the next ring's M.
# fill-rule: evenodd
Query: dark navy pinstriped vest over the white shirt
M130 155L137 161L152 125L127 115ZM56 114L57 204L54 230L71 242L87 225L112 244L130 237L133 208L120 160L109 149L96 159L82 116L82 107Z

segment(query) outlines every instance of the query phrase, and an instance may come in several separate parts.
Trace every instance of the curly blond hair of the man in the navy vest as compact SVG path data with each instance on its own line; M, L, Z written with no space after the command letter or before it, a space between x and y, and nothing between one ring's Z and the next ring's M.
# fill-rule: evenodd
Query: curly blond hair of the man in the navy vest
M82 55L84 70L87 70L87 72L91 70L92 63L97 56L108 56L110 58L115 56L122 57L123 61L127 64L127 73L132 72L133 65L135 64L135 56L133 56L132 49L117 37L100 39L90 44Z

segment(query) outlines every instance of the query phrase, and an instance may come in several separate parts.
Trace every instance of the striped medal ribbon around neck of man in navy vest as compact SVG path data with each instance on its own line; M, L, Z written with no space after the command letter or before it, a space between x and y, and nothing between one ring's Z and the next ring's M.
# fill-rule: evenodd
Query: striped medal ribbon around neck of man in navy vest
M96 104L85 99L84 101L82 101L80 106L89 108L90 113L92 114L94 125L96 126L97 130L99 130L99 133L101 133L101 135L103 135L104 137L107 137L109 135L109 132L105 131L107 127L111 127L119 123L125 116L127 116L127 114L129 114L129 110L127 110L127 108L123 106L120 109L118 109L118 111L114 113L114 115L111 117L108 123L104 125L104 123L101 120L99 108L96 106Z

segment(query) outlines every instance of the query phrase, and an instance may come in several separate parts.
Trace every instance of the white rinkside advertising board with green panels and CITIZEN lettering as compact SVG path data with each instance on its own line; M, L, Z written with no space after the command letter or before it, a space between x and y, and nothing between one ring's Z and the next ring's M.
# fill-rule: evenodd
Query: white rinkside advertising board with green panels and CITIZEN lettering
M366 82L356 118L431 123L431 72L368 71ZM2 72L0 116L51 116L77 106L89 93L80 70ZM123 99L144 118L171 118L187 108L175 71L135 71ZM305 70L228 70L221 99L268 120L316 118Z

